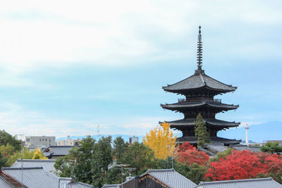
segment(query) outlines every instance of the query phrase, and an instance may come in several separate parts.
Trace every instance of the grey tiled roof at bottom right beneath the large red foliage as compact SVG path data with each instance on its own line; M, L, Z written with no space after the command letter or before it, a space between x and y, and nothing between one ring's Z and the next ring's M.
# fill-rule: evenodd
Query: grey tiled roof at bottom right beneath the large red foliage
M271 177L248 180L226 180L216 182L200 182L197 187L203 188L281 188L282 185L272 180Z

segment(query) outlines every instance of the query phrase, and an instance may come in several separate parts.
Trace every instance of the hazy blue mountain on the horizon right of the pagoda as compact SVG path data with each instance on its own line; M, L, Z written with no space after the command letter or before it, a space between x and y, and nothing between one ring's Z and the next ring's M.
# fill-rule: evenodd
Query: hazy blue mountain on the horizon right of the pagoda
M249 140L253 142L263 142L264 140L282 140L282 122L273 121L257 125L249 125ZM229 130L220 131L219 137L228 139L246 139L245 127L231 128Z

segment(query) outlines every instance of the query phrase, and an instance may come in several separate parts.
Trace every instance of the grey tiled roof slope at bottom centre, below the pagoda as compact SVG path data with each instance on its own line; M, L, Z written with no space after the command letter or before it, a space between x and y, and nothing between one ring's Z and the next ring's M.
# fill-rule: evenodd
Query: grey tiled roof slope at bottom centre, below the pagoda
M171 188L188 188L197 185L183 175L180 175L180 173L176 172L174 169L147 170L147 173ZM142 175L140 177L142 177Z

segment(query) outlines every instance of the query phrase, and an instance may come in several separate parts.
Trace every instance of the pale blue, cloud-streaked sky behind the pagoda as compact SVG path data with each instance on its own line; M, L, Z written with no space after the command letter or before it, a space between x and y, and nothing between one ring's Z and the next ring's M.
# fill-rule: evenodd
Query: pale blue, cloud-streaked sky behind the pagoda
M197 69L245 125L282 120L281 1L1 1L0 130L144 135L181 113L164 92ZM177 132L176 132L177 133Z

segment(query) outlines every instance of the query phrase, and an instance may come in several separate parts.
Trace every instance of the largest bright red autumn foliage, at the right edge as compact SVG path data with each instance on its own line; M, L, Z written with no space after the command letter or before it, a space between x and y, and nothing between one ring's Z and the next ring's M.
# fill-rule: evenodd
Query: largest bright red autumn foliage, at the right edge
M209 164L204 177L212 180L239 180L282 173L282 157L270 153L233 151L229 156Z

